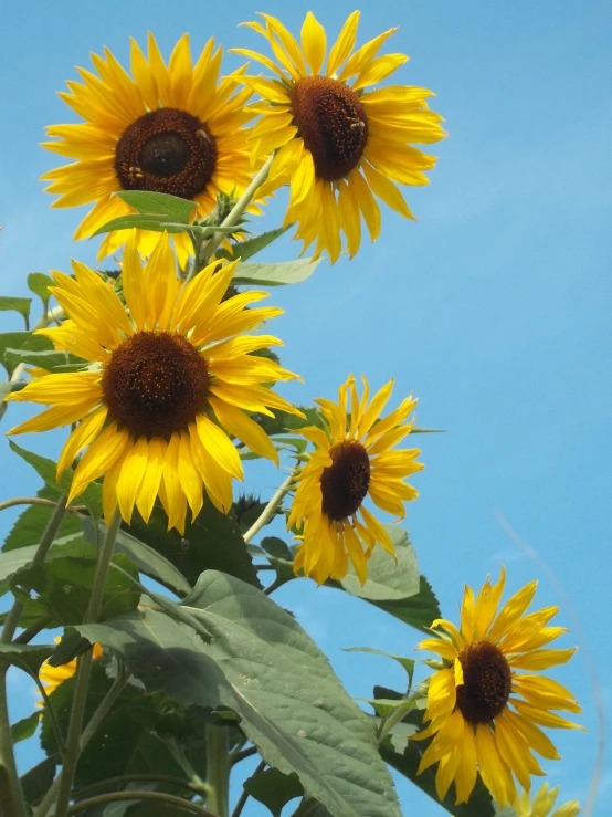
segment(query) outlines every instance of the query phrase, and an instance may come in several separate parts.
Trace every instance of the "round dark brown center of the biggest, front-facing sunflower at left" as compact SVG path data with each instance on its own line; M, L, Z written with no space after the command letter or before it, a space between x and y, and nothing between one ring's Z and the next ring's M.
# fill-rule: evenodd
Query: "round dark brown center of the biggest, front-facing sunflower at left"
M109 418L137 437L181 431L205 406L205 360L180 335L138 332L104 367L102 388Z

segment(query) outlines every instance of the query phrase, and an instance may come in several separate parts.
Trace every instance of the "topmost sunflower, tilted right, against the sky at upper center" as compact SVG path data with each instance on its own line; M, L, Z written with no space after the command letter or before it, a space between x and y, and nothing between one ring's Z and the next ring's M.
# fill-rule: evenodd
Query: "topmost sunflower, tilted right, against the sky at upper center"
M351 54L359 12L354 11L333 45L327 63L325 29L308 12L302 27L302 49L274 17L262 14L244 25L266 38L276 63L246 49L232 51L258 60L273 80L241 76L264 99L251 107L262 114L252 132L256 159L277 150L262 195L291 182L285 223L298 222L296 238L306 250L316 241L315 255L327 250L336 261L340 231L352 258L361 240L361 216L370 238L380 233L380 209L374 198L405 218L413 218L401 185L426 185L423 170L435 165L410 143L429 144L445 133L442 117L428 108L431 91L391 85L367 91L407 62L404 54L377 56L397 29L370 40Z

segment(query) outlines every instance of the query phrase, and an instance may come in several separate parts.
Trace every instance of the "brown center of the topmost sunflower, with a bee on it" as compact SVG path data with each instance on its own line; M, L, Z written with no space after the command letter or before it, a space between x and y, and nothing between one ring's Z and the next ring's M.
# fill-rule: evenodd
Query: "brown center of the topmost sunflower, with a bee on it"
M292 109L317 178L337 181L348 176L368 140L368 118L356 92L339 80L305 76L293 87Z

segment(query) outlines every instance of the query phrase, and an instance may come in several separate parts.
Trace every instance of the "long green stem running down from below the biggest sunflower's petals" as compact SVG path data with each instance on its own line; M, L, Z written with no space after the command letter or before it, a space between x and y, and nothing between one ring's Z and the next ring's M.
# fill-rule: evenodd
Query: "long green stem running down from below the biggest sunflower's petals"
M104 543L98 554L92 596L85 614L84 624L95 624L99 617L104 598L104 588L106 586L110 559L113 558L113 552L115 549L115 538L117 536L120 522L120 514L118 511L115 511L115 515L106 530L106 536L104 537ZM55 817L66 817L68 814L72 783L78 755L81 753L81 732L83 730L83 715L85 713L85 704L87 701L87 688L89 685L92 662L92 650L81 656L76 662L74 698L66 739L66 752L62 771L52 785L52 788L56 787L57 790ZM44 811L42 811L42 814L44 814Z

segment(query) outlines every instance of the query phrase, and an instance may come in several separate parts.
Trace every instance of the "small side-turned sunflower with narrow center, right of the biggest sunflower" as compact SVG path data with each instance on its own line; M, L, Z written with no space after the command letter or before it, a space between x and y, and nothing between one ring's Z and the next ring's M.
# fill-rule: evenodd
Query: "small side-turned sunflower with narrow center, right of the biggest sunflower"
M416 448L392 451L410 433L414 421L404 422L416 405L405 400L383 419L380 412L391 396L393 380L378 391L368 405L369 386L363 377L361 399L352 375L340 386L338 404L318 399L326 428L303 428L302 433L316 450L297 476L288 527L300 530L302 544L294 570L304 570L320 585L327 578L344 578L348 559L363 584L368 558L378 543L394 555L389 534L363 506L369 496L378 507L404 516L403 503L419 492L403 480L421 471ZM350 395L350 415L347 398Z

